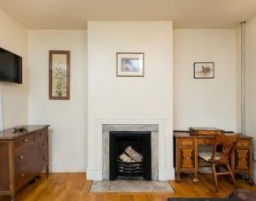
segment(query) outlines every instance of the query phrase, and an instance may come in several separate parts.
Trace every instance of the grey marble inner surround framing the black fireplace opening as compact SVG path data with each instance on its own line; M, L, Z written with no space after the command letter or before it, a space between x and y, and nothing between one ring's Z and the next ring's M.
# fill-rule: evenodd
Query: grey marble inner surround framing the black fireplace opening
M109 180L109 132L151 131L151 177L159 180L159 125L157 124L104 124L102 139L103 180Z

